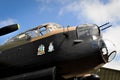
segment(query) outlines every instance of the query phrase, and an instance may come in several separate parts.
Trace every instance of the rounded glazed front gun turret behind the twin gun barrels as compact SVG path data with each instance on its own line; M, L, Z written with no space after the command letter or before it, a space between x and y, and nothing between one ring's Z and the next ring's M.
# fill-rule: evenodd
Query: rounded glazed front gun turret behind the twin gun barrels
M95 24L83 24L77 27L78 39L87 40L92 38L93 40L101 37L100 29Z

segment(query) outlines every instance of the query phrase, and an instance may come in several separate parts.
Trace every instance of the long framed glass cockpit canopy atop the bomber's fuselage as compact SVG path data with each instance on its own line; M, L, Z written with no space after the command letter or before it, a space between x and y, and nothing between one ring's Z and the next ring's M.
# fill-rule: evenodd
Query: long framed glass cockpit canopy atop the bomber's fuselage
M43 36L51 31L54 31L56 29L61 28L61 25L56 23L46 23L43 25L40 25L36 28L30 29L26 32L23 32L11 39L9 39L6 43L11 43L13 41L19 41L19 40L28 40L35 37Z

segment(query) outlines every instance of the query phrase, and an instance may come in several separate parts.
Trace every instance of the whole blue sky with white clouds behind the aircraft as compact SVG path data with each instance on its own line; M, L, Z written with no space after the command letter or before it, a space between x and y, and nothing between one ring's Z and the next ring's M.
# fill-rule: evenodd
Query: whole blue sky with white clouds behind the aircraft
M0 44L38 25L54 22L62 26L110 22L104 39L116 45L117 57L105 67L120 70L120 0L0 0L0 27L20 24L18 31L0 37Z

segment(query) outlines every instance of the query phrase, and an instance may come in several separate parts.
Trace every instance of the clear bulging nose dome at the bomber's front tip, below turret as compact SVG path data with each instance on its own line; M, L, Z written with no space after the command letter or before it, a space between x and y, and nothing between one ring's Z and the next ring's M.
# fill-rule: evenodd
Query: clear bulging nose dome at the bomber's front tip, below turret
M109 41L109 40L104 40L102 41L102 56L105 60L105 62L110 62L112 61L115 56L116 56L116 49L115 45Z

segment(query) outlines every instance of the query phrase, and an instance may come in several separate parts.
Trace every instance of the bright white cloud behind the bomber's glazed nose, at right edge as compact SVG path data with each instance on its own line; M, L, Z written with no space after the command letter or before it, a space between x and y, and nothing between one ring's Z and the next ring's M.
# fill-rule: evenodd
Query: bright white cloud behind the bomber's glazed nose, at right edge
M120 70L120 37L119 37L119 34L120 34L120 26L119 25L116 27L109 28L103 34L104 39L107 39L107 40L113 42L115 44L115 48L117 50L117 56L115 57L115 59L112 62L107 63L104 67ZM109 46L109 47L111 47L111 46ZM113 48L111 47L111 50L112 49Z

